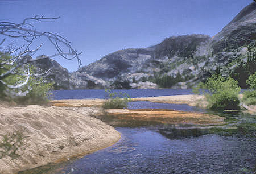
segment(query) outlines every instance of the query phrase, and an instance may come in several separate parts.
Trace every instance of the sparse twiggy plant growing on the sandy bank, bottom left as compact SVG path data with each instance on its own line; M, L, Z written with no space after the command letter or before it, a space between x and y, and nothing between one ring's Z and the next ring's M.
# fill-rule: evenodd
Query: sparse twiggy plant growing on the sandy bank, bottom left
M0 159L10 156L11 160L22 155L22 151L27 146L24 130L17 130L9 134L2 135L0 140Z

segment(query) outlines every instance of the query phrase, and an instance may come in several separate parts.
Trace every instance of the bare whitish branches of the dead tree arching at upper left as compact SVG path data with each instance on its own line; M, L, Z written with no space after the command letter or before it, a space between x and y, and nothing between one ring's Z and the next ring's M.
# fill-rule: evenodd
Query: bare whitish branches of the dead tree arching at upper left
M58 19L58 18L45 18L44 16L35 16L34 18L26 18L22 23L12 22L0 22L0 86L5 86L8 89L19 89L16 95L26 95L28 91L22 92L23 86L26 86L31 76L45 76L47 72L43 74L31 74L29 64L32 61L39 59L52 58L61 56L63 59L76 59L78 67L81 66L81 60L79 55L81 52L77 52L70 45L70 42L63 36L53 34L52 32L40 32L36 31L36 28L32 25L33 22L41 22L46 19ZM37 45L34 49L31 49L32 43L40 38L46 38L49 43L56 49L54 55L40 56L35 59L31 59L35 53L42 48L42 43ZM22 40L22 45L18 47L13 44L13 41ZM24 43L24 44L23 44ZM60 46L61 45L61 46ZM9 59L6 59L9 56ZM26 67L26 68L24 68ZM24 69L22 76L24 80L18 82L16 85L7 84L4 79L8 76L12 76L18 73L18 69ZM19 72L20 74L20 72ZM1 89L1 88L0 88Z

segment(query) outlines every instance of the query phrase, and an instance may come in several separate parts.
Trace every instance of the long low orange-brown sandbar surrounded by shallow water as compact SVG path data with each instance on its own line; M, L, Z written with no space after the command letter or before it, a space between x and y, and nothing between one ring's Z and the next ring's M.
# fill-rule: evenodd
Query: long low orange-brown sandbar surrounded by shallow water
M142 124L182 124L182 125L220 125L224 124L224 118L217 115L204 113L194 113L186 111L175 111L167 109L109 109L105 110L109 119L108 123L112 126L130 122L137 122L137 126ZM115 125L117 124L117 125ZM141 125L143 126L143 125Z

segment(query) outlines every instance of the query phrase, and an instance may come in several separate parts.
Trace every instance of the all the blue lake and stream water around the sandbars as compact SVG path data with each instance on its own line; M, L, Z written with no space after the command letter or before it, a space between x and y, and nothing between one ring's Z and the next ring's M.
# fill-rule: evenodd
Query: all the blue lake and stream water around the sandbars
M59 91L55 96L58 96L56 99L61 99L60 96L74 98L86 93L83 95L92 98L92 93L89 94L88 91L97 93L97 90ZM102 92L104 90L98 90L98 96L95 98L102 98ZM132 97L191 94L191 90L173 89L137 89L125 92ZM151 102L132 102L129 107L195 111L194 107L188 105ZM226 118L226 128L120 125L115 129L121 132L122 138L113 146L81 159L46 165L24 173L254 173L255 115L241 112L215 114ZM237 129L232 129L234 127Z

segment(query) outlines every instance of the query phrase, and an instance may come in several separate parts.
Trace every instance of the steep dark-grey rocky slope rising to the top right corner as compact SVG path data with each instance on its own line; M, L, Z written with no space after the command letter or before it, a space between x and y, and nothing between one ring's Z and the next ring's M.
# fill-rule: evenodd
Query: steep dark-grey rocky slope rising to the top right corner
M200 80L214 71L223 76L232 76L243 88L248 72L256 71L256 3L245 7L227 26L197 48L195 54L200 64ZM245 65L247 63L247 65ZM250 67L250 68L247 68ZM246 73L245 73L246 71ZM234 74L240 73L240 76Z

